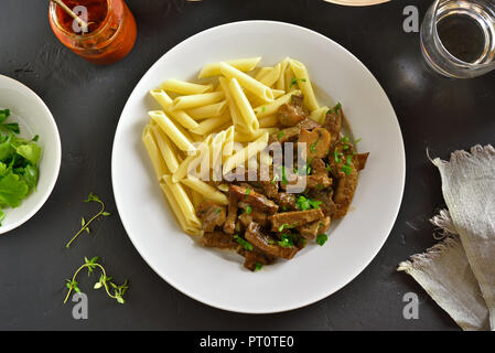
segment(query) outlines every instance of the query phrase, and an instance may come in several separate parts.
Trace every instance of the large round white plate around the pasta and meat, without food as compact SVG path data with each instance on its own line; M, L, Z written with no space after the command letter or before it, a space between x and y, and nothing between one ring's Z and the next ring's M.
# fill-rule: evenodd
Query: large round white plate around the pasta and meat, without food
M182 233L154 178L141 132L157 106L148 96L165 78L194 78L211 62L262 56L273 65L302 61L312 81L341 101L361 151L370 151L353 211L324 246L258 272L236 254L207 249ZM405 152L394 109L369 71L327 38L292 24L246 21L198 33L163 55L142 77L123 108L114 142L112 183L123 226L144 260L170 285L206 304L268 313L300 308L355 278L386 240L402 197Z

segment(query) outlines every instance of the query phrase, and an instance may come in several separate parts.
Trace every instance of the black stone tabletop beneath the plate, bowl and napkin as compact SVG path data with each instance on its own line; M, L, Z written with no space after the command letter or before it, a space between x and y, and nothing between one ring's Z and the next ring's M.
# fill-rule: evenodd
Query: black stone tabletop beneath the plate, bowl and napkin
M44 207L21 227L0 236L1 330L458 330L456 324L397 264L431 246L428 218L442 207L440 178L427 158L448 158L455 149L493 143L495 72L453 81L423 66L419 33L402 31L402 10L424 15L430 0L346 8L321 0L204 0L186 3L128 0L139 33L123 61L94 66L53 35L46 1L1 0L0 73L34 89L58 125L63 158L58 182ZM206 307L176 291L136 252L118 215L98 222L69 250L64 245L90 191L116 212L111 190L111 146L123 105L146 71L184 39L239 20L278 20L303 25L338 42L377 77L396 109L406 145L407 181L396 225L373 263L330 298L303 309L249 315ZM366 236L366 235L364 235ZM118 280L130 279L122 307L90 288L89 319L74 320L62 304L64 280L84 256L101 256ZM311 276L324 276L318 268ZM419 319L402 318L402 296L416 292Z

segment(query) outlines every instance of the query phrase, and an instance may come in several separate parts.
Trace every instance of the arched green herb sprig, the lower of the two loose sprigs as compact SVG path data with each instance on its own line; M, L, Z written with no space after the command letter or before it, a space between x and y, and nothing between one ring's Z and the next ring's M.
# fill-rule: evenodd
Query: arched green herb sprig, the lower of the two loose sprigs
M123 304L126 301L123 300L123 295L129 289L128 281L123 282L123 285L117 286L115 282L112 282L112 277L108 277L107 272L105 271L105 268L97 263L99 259L98 256L93 257L92 259L88 259L87 257L84 258L84 264L76 270L72 279L67 279L65 286L68 288L67 296L65 296L64 304L67 302L68 298L71 297L72 291L74 290L76 293L80 292L80 289L78 288L78 282L76 281L77 275L85 268L88 270L88 276L93 275L93 271L95 269L99 269L101 271L101 275L99 277L99 280L95 284L94 289L105 288L105 291L107 295L117 300L117 302ZM110 291L114 290L114 293Z

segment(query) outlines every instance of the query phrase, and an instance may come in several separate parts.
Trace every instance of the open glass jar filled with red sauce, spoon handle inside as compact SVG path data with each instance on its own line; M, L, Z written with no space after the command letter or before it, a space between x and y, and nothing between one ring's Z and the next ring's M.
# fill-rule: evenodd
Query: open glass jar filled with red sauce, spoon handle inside
M56 38L77 55L101 65L123 58L136 42L136 20L123 0L63 0L80 15L87 14L88 29L80 26L62 7L50 4L50 25ZM84 7L84 8L77 8Z

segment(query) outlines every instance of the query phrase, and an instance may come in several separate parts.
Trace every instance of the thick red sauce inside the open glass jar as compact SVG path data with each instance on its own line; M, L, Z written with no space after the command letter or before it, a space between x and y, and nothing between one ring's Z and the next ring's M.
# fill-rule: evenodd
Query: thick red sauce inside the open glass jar
M63 0L63 2L71 9L78 6L83 6L87 9L87 23L88 23L88 33L96 31L101 23L105 21L108 13L108 4L107 0ZM79 14L79 13L76 13ZM80 14L79 14L80 15ZM56 17L58 18L58 23L67 31L76 33L74 31L74 19L64 11L61 7L56 9Z

